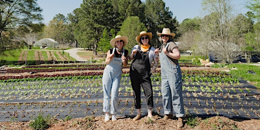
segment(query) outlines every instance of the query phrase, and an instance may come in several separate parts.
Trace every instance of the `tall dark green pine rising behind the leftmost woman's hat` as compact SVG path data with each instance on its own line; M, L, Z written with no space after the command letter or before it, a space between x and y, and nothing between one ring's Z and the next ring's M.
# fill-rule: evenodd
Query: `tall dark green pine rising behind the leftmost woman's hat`
M80 8L80 21L76 27L76 39L81 46L96 50L104 28L113 28L115 19L109 0L83 0ZM96 52L94 51L94 54Z

